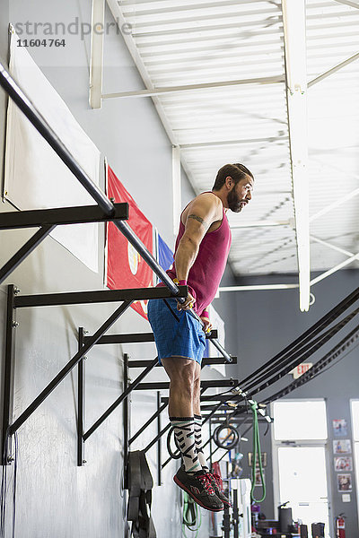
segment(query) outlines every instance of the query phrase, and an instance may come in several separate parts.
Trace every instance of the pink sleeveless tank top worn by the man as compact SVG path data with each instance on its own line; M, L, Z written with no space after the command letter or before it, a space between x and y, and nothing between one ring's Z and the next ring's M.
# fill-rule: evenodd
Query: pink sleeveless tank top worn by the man
M182 220L180 220L180 231L176 239L175 254L184 231L185 226ZM188 287L196 299L194 310L196 310L198 316L215 299L215 294L227 263L231 242L231 229L223 208L221 226L217 230L207 231L199 246L196 261L188 273ZM171 279L176 278L176 267L174 264L167 273L171 276Z

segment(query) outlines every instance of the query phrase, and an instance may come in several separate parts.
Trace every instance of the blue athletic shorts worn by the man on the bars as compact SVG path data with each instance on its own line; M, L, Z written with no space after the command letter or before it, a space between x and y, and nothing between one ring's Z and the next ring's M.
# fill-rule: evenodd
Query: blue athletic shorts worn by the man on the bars
M166 299L171 311L163 299L151 299L147 305L147 316L152 326L158 358L184 357L201 360L206 348L206 336L197 319L188 312L177 309L176 299Z

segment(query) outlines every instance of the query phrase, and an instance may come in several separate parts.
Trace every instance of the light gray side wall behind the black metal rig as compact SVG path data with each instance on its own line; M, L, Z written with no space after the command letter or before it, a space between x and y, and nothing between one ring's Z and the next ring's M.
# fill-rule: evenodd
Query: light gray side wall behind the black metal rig
M56 6L56 7L55 7ZM1 0L0 56L7 57L8 22L66 21L78 16L91 21L91 3L45 1L29 4L14 1L9 16L8 2ZM106 20L112 21L110 13ZM22 36L24 38L26 36ZM122 37L112 33L105 41L104 91L142 88ZM31 48L49 82L55 87L74 117L106 155L137 204L157 226L169 245L172 234L171 143L164 133L151 100L108 100L101 110L88 105L89 38L66 39L66 48L49 52ZM5 96L0 91L0 147L4 144ZM0 164L3 152L0 151ZM103 188L101 178L101 188ZM184 193L190 187L184 185ZM161 202L161 206L159 205ZM71 204L71 201L69 201ZM0 211L12 211L0 204ZM0 265L3 265L34 230L0 232ZM47 238L0 287L0 338L4 356L4 312L6 284L14 283L23 294L56 291L101 290L103 288L103 227L99 234L99 273L92 273L54 239ZM60 308L26 308L18 311L14 415L17 417L77 350L77 328L92 334L109 317L115 305ZM110 333L149 330L148 323L129 310ZM153 359L153 344L97 347L86 361L86 425L91 426L122 390L123 352L131 358ZM131 371L133 377L138 372ZM148 380L164 380L156 369ZM76 466L76 370L34 412L19 430L16 536L19 538L115 537L123 535L125 502L121 490L122 409L89 438L85 447L87 464ZM132 396L132 433L156 408L156 395ZM166 423L167 413L162 423ZM156 433L156 424L132 446L144 447ZM163 444L163 454L165 445ZM179 537L180 490L172 475L176 464L166 467L163 485L156 484L157 448L148 453L155 482L153 519L159 536ZM9 480L13 467L8 470ZM8 495L7 533L11 528L11 494ZM165 510L163 510L165 507Z

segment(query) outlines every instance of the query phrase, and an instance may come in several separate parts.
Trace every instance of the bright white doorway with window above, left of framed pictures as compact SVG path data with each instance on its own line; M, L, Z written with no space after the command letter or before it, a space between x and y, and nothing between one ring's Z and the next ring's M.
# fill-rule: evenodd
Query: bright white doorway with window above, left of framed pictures
M281 400L273 404L274 492L276 506L289 501L293 520L325 524L332 534L328 483L326 402Z

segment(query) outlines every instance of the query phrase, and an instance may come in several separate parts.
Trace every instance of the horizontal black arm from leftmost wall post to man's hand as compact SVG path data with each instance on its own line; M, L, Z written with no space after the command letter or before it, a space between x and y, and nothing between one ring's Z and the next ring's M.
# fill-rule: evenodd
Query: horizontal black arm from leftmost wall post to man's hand
M187 286L180 286L180 296L187 296ZM55 307L99 302L119 302L122 300L170 298L167 288L133 288L129 290L70 291L69 293L42 293L40 295L20 295L15 298L15 308ZM92 338L90 336L89 338Z

